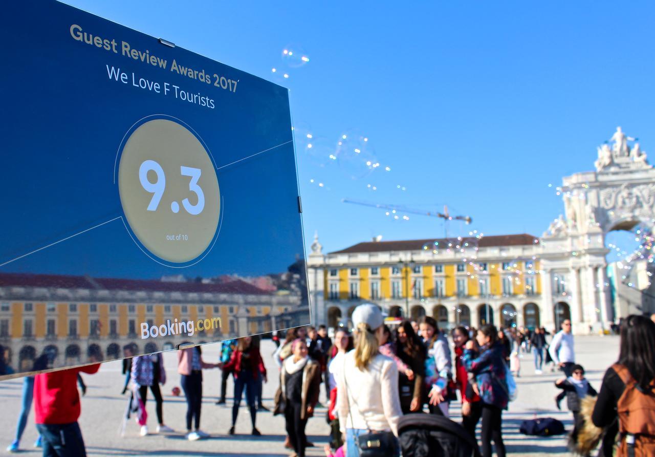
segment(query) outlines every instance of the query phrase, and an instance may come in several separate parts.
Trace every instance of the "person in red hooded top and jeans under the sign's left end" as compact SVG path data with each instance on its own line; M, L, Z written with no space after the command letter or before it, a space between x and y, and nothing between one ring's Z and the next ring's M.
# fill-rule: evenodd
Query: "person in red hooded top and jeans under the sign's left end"
M100 363L34 377L34 412L37 430L43 437L43 457L85 457L86 449L77 419L80 395L77 375L92 375Z

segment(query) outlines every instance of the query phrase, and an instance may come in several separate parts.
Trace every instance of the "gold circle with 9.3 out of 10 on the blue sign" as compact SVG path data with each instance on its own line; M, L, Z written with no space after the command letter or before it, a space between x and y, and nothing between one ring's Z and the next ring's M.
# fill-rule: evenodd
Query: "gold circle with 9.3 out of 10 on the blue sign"
M158 192L144 188L160 187ZM161 167L165 186L153 170ZM187 167L187 168L184 168ZM196 185L204 196L197 214L198 192L188 168L200 170ZM191 172L197 173L197 172ZM185 126L168 119L155 119L139 126L127 139L119 164L119 194L128 225L143 247L171 263L185 263L201 255L214 239L220 214L220 191L214 164L202 143ZM187 199L186 204L183 200ZM191 208L191 213L185 208ZM151 207L149 209L149 206ZM193 207L196 210L193 210Z

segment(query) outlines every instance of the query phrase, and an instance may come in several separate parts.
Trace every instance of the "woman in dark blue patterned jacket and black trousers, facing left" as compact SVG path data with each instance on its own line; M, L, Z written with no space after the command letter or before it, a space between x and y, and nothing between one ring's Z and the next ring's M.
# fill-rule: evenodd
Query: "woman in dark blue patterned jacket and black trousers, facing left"
M482 456L491 457L491 441L496 445L496 455L505 457L505 444L502 441L502 410L510 401L505 380L505 360L502 343L494 325L483 325L477 331L479 354L472 340L464 346L464 367L475 376L477 389L482 401Z

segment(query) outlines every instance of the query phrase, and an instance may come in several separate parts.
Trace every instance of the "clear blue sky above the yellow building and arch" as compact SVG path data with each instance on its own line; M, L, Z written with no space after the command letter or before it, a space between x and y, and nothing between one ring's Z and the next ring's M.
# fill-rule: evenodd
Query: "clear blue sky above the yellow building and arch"
M474 219L453 233L540 235L563 212L561 177L593 170L616 126L655 159L649 3L65 3L288 86L308 246L314 230L327 251L443 236L438 219L342 198L448 204ZM327 158L343 134L369 138L381 166L362 176L358 156Z

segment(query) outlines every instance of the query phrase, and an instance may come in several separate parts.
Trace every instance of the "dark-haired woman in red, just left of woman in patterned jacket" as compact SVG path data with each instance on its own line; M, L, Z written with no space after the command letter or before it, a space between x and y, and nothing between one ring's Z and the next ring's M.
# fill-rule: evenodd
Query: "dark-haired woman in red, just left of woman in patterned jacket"
M482 402L477 395L475 382L468 380L468 372L464 367L464 346L470 340L466 327L453 329L455 343L455 385L462 397L462 426L475 439L477 422L482 415ZM477 443L477 440L476 440Z

